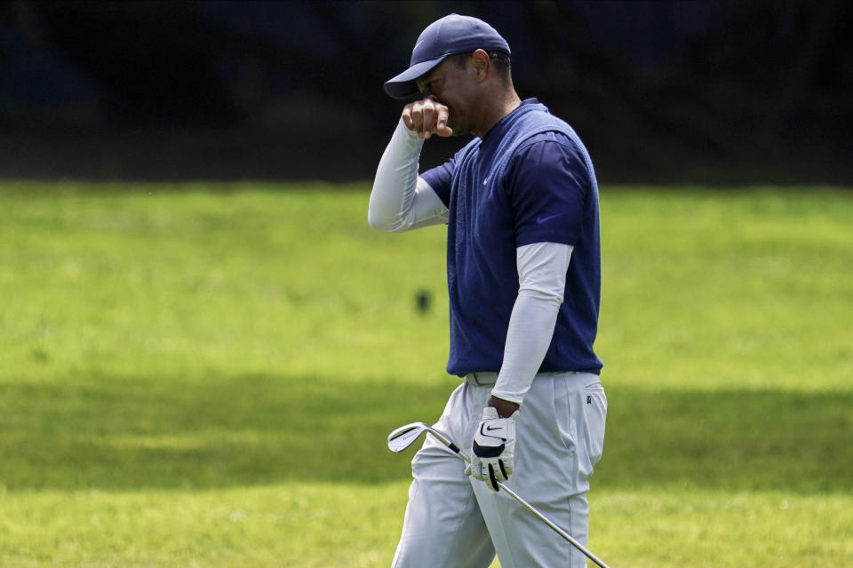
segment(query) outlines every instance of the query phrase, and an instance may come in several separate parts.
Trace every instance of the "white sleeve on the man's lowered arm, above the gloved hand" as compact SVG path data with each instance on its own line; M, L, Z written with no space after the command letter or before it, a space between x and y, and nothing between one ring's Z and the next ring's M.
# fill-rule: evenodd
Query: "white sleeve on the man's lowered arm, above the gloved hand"
M518 297L509 319L504 362L491 390L497 398L522 403L554 336L566 288L571 245L538 242L519 247Z

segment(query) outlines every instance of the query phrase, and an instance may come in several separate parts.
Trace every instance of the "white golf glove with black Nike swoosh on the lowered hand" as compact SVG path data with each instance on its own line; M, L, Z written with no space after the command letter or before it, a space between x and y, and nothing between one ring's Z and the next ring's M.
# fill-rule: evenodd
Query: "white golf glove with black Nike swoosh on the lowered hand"
M498 418L498 409L494 406L482 409L482 420L474 434L471 464L465 469L466 476L485 481L486 485L498 491L498 481L506 481L513 472L517 419L517 410L509 418Z

